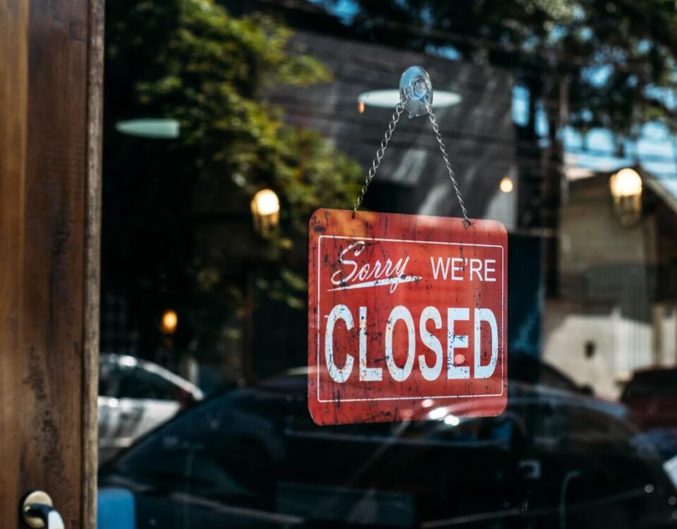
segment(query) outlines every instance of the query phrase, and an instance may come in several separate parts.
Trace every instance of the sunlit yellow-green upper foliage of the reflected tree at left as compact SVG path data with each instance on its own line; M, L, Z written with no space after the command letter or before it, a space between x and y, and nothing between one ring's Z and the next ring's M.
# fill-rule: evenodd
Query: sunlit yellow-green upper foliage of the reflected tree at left
M190 171L234 178L245 194L272 186L299 233L312 209L350 202L359 167L266 102L276 85L331 80L322 63L289 51L291 30L269 16L233 18L212 0L118 0L107 23L109 118L178 119L173 148Z

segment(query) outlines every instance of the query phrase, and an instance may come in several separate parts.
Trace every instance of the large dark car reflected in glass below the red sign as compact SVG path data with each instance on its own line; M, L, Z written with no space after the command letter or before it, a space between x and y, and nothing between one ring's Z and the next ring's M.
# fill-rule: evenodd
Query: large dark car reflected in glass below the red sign
M511 382L499 417L430 400L429 420L318 427L306 391L298 373L195 406L102 468L102 494L122 488L138 529L674 523L622 406Z

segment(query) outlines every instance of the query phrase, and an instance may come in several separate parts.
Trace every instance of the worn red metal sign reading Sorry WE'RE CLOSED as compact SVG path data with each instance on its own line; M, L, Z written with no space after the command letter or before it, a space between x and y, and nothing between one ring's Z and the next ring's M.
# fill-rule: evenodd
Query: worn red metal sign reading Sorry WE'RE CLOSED
M308 258L317 424L504 411L503 224L318 209Z

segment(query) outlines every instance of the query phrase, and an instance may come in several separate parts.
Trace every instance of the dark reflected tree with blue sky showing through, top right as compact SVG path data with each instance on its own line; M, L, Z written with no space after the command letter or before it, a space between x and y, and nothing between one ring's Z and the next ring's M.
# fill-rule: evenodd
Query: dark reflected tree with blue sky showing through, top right
M336 0L326 0L328 5ZM508 68L559 123L562 83L568 121L631 134L660 119L677 127L664 87L674 90L677 6L664 0L357 0L355 30L396 47L453 48L465 59ZM554 103L554 104L553 104Z

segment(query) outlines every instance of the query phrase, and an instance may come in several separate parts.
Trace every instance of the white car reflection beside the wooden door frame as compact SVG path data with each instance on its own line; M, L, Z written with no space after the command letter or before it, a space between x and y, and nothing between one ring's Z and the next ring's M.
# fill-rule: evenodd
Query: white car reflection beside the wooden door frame
M159 365L127 355L101 355L99 459L105 461L202 398L200 389Z

